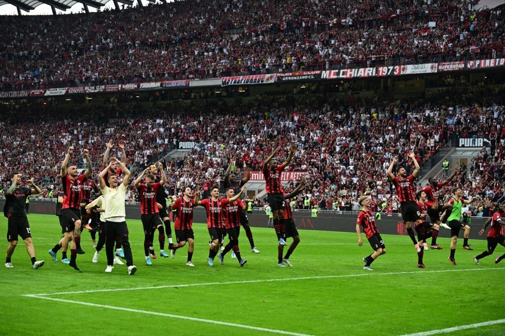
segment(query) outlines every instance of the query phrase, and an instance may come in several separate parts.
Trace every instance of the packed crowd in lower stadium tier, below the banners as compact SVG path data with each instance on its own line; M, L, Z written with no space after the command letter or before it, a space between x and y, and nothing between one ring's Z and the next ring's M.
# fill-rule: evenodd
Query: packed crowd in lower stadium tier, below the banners
M286 170L307 172L309 188L301 197L309 196L312 205L356 210L357 198L369 194L374 209L397 212L397 197L385 174L394 155L412 170L409 150L421 165L431 164L456 135L476 135L491 139L490 152L484 149L472 159L464 180L459 177L451 186L461 185L469 195L483 196L475 215L481 207L485 214L489 202L503 200L505 192L505 95L503 90L490 91L449 88L422 99L352 101L321 95L297 100L265 95L240 106L218 100L176 101L150 108L9 105L2 107L5 118L0 121L0 190L10 185L8 174L16 170L44 184L43 195L48 195L59 185L60 164L70 145L77 153L89 149L96 179L110 138L125 142L134 174L174 149L177 141L194 141L184 157L164 162L170 195L178 195L185 186L205 192L220 184L230 160L239 178L244 162L251 170L261 170L272 150L281 147L278 159L282 161L294 144L296 152ZM120 155L116 146L111 156ZM83 166L79 155L72 160ZM442 190L442 195L449 194L450 187ZM136 199L133 187L127 197ZM255 202L263 205L262 199Z

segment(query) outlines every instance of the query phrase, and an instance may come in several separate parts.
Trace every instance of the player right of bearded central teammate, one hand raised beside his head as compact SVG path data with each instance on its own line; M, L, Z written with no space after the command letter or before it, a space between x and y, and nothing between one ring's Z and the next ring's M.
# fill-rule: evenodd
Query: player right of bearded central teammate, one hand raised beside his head
M245 186L242 187L240 190L240 194L242 194L245 191ZM226 232L228 233L228 239L230 242L225 246L223 252L221 252L219 256L219 261L221 262L221 265L224 265L224 256L226 253L228 253L231 249L233 249L233 252L235 252L235 256L237 257L238 263L240 264L240 267L245 265L247 260L243 260L240 257L240 249L238 248L238 236L240 235L240 210L245 210L247 207L247 204L244 204L240 199L235 199L234 201L230 201L233 199L235 196L235 192L233 191L233 188L228 188L226 190L226 198L228 199L228 203L224 203L222 206L222 211L224 211L224 218L226 222ZM248 201L246 201L247 203ZM211 255L208 257L209 261L209 266L212 266L214 261L213 258L211 258Z

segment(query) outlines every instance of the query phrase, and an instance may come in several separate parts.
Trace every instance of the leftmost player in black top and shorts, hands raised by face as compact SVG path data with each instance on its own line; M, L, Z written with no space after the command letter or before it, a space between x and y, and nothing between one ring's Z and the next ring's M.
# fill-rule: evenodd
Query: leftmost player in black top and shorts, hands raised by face
M21 187L22 175L18 172L11 174L11 187L6 192L6 203L4 206L4 215L8 218L7 241L7 257L5 259L6 267L14 267L11 257L14 249L18 245L18 236L21 236L26 244L26 251L30 256L32 268L37 269L44 265L44 261L37 261L35 258L35 248L31 239L30 224L26 216L26 198L30 195L38 195L41 193L32 180L28 180L28 187Z

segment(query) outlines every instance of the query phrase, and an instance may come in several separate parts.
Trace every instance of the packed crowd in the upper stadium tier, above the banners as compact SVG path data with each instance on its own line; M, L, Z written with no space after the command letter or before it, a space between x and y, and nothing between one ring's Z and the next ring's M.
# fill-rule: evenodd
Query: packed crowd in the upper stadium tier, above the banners
M6 16L0 90L499 58L503 13L472 0L186 0Z

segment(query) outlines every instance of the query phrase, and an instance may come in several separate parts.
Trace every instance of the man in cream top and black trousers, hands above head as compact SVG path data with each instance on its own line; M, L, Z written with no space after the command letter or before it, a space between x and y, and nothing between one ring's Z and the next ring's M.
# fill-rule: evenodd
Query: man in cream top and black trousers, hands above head
M123 179L123 183L118 185L118 176L109 173L109 176L107 177L109 187L107 187L104 177L109 172L113 164L119 164L121 170L125 174L125 177ZM121 244L123 245L126 265L128 266L128 274L135 274L137 267L133 265L130 242L128 241L128 226L126 225L125 212L125 196L130 176L131 172L123 162L120 162L117 158L111 158L111 162L107 167L105 167L102 173L100 173L98 180L100 181L100 190L102 190L102 195L104 195L102 202L105 204L104 218L106 219L106 237L119 236ZM112 269L114 268L114 243L113 239L107 239L105 243L105 253L107 254L107 268L105 271L108 273L112 272Z

